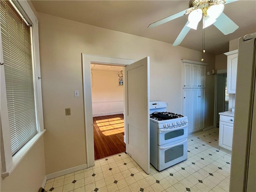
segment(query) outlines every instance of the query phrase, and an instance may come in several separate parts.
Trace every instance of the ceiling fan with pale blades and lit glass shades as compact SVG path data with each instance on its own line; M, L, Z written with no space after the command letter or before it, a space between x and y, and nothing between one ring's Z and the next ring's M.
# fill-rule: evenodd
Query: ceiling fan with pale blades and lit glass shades
M178 46L189 30L197 29L198 23L203 18L203 29L214 24L223 34L227 35L238 29L238 26L223 13L224 4L235 2L237 0L190 0L189 8L158 20L148 26L148 28L156 27L183 15L188 15L188 22L182 28L180 34L172 44Z

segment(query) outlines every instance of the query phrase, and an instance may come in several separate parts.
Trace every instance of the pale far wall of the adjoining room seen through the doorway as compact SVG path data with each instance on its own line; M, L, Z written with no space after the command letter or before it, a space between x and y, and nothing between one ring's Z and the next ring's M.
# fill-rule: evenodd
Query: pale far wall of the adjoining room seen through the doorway
M117 84L116 71L92 70L92 114L104 116L124 112L124 88Z

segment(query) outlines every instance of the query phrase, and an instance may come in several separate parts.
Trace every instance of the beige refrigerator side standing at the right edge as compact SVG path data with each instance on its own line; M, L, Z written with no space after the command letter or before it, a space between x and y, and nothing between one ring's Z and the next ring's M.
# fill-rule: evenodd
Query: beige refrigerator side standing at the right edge
M230 192L256 191L256 33L239 38Z

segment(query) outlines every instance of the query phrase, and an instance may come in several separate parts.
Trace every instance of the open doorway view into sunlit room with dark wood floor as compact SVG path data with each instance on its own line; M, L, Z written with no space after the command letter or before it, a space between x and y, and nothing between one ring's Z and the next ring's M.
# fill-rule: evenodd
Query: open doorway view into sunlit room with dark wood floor
M94 159L125 152L122 66L91 62Z

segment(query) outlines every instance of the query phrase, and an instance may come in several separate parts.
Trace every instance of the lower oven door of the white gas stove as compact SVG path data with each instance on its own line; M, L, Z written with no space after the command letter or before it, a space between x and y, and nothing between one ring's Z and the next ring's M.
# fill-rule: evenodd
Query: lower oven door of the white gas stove
M161 171L188 158L188 140L158 146L158 170Z

